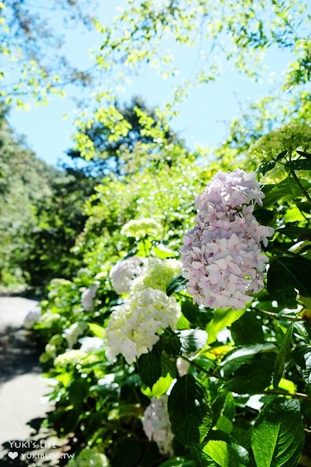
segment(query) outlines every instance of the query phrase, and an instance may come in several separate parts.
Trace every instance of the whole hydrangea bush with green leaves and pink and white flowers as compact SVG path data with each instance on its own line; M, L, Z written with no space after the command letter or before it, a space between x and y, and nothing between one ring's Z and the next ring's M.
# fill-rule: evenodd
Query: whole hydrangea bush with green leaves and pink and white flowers
M98 188L111 203L89 206L93 253L34 323L73 465L310 465L309 144L283 127L250 148L256 174L197 166L182 183L189 161L157 161L153 179L130 175L150 186L126 208L124 181Z

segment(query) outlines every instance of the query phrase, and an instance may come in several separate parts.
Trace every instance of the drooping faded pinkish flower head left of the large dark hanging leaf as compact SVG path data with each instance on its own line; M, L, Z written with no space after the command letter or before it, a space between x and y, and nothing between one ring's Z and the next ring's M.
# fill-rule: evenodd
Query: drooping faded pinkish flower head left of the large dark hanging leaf
M143 413L142 424L148 440L157 443L160 453L172 456L174 455L172 448L174 435L171 430L167 407L167 396L161 396L159 399L153 397L150 405Z

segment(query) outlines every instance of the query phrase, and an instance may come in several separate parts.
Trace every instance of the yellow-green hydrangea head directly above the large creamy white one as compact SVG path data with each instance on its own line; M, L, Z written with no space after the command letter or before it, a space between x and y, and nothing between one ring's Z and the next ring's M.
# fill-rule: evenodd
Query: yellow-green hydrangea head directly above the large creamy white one
M181 261L178 260L151 258L146 265L146 271L133 282L132 290L135 292L142 288L152 287L165 292L166 286L181 273L182 267Z

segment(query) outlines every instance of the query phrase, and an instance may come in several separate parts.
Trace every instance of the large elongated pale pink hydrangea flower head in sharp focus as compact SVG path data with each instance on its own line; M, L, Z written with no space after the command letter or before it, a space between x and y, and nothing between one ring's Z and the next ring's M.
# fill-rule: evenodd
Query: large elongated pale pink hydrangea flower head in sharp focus
M253 203L264 194L255 174L218 172L198 197L197 225L183 241L183 277L194 301L210 308L244 308L264 286L261 250L273 229L257 223Z

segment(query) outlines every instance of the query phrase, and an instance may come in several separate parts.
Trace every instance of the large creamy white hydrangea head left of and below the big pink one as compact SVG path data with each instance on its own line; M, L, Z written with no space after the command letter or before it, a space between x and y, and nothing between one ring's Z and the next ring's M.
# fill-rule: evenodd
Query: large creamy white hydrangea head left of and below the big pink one
M150 287L137 291L111 313L105 330L107 358L113 361L122 354L133 363L152 349L165 328L175 328L179 312L174 297Z

